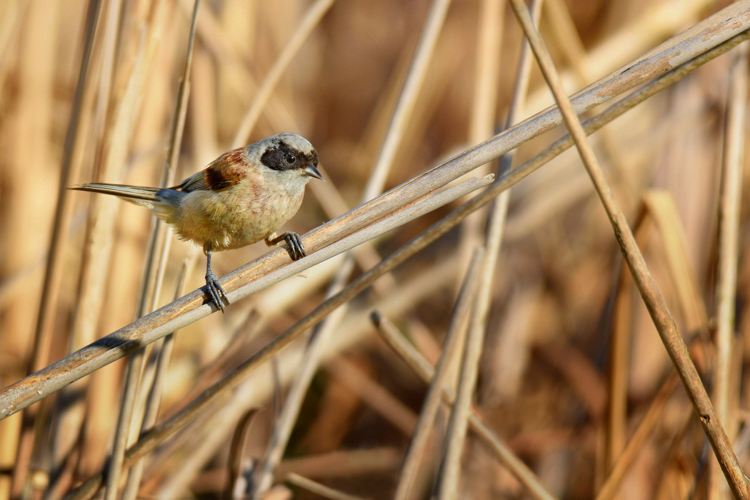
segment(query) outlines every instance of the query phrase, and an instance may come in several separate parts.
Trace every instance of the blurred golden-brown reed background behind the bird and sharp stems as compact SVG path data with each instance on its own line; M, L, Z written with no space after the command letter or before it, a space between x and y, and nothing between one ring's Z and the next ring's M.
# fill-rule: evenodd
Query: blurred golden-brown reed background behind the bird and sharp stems
M201 2L178 180L232 147L261 82L313 3ZM498 69L487 93L477 85L487 64L480 26L493 3L499 4L492 21L498 45L490 53L496 53ZM572 93L727 3L545 0L540 31ZM121 7L114 16L112 5ZM333 1L282 73L245 143L272 133L300 133L317 148L329 183L310 184L285 229L302 234L359 205L430 8L428 0ZM136 318L150 214L118 199L69 192L53 249L60 265L53 297L47 298L52 306L39 325L66 134L71 112L80 109L68 154L70 184L158 185L192 9L189 0L103 0L77 103L89 1L0 1L2 386ZM478 115L504 123L520 42L505 2L452 1L386 188L491 136L481 131ZM711 61L592 138L618 201L637 227L649 268L681 330L689 333L710 330L715 314L728 61L728 55ZM553 102L532 66L524 118ZM516 163L562 133L553 130L523 145ZM747 176L743 179L745 190ZM340 193L340 203L326 207L332 189ZM455 206L408 223L375 248L388 255ZM743 366L750 361L750 343L745 340L743 347L750 334L743 307L750 286L744 209L740 220L735 352ZM381 340L368 314L377 307L436 361L463 278L463 237L458 229L449 232L401 265L391 293L365 292L353 301L307 391L278 482L296 472L352 495L392 496L426 386ZM204 284L202 255L171 233L168 238L173 241L154 301L158 307L175 298L184 269L190 271L186 291ZM226 274L267 251L255 244L219 253L214 271ZM592 498L670 362L637 291L621 277L619 248L574 150L513 188L499 259L476 403L550 492L559 499ZM337 265L323 263L181 330L163 381L159 420L320 304ZM618 329L629 347L613 372L610 339ZM157 448L146 462L139 495L226 498L238 422L248 409L258 409L248 427L245 457L248 463L263 460L303 347L281 352L273 370L270 365L259 370L230 400L220 400ZM98 370L49 398L43 412L37 404L0 421L0 500L61 499L101 470L112 447L125 366L121 360ZM737 421L744 421L743 409L750 408L747 374L734 381ZM619 437L613 437L607 418L615 378L627 405ZM447 415L438 416L413 498L428 498ZM677 388L625 475L620 498L685 499L693 493L703 498L708 453L692 415ZM275 490L287 495L278 498L320 498L287 487ZM469 433L460 498L529 497Z

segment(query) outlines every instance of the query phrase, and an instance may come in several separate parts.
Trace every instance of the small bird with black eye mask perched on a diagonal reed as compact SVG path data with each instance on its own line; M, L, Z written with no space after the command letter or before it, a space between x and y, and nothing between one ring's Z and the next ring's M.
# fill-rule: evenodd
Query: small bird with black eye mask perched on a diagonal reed
M70 189L118 196L148 208L170 224L183 241L201 246L206 256L208 296L222 312L226 292L211 271L211 253L265 240L287 242L293 260L306 256L296 232L276 235L302 204L311 178L323 181L318 154L302 136L280 133L233 149L174 187L83 184Z

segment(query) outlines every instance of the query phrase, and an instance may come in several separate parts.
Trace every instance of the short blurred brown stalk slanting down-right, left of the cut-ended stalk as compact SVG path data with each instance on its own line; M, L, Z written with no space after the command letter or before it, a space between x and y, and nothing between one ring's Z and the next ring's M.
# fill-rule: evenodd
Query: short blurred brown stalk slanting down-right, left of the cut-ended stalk
M365 404L379 413L386 421L404 433L411 436L417 424L417 415L401 400L398 400L383 385L378 384L359 367L346 358L337 358L328 367L330 373L350 388Z

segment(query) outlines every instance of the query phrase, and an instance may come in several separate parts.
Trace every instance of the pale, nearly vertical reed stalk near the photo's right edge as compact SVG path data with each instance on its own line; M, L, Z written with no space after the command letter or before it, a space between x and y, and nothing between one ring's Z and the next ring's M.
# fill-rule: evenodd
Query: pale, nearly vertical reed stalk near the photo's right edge
M732 52L729 67L729 88L724 118L724 157L721 166L721 205L718 230L718 263L716 279L716 364L712 400L716 416L727 430L730 440L736 435L736 424L730 420L732 353L735 336L735 302L737 293L737 261L739 259L739 209L742 202L742 172L745 160L745 118L748 93L748 43ZM709 500L728 499L726 481L715 460L709 461Z

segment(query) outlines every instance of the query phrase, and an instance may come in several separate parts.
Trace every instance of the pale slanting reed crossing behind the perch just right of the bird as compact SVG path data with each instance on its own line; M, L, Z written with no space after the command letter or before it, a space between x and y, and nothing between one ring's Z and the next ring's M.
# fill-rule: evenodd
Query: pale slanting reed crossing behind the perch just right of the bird
M401 144L401 139L404 137L408 118L411 115L414 103L419 95L419 90L422 88L422 83L425 80L428 64L434 55L437 38L445 23L450 3L451 0L435 0L431 6L409 71L404 80L404 85L401 88L401 93L391 116L389 127L386 130L386 136L383 139L377 160L365 185L365 190L363 190L362 204L383 193L383 187L393 166L396 151ZM326 292L326 298L341 292L341 289L350 280L353 270L354 256L347 254L344 263L335 274L328 292ZM328 316L322 324L318 325L311 335L304 361L302 361L302 367L300 367L290 386L286 403L284 403L284 409L274 425L272 439L266 451L266 458L263 460L263 467L257 482L257 490L254 491L256 496L262 496L263 493L266 493L272 487L274 471L278 464L281 463L281 458L287 449L287 444L299 417L299 411L302 408L302 402L305 399L305 394L308 393L313 376L320 365L320 359L323 357L326 344L329 343L330 337L335 333L338 326L341 325L341 320L344 319L346 312L347 307L344 305L340 310Z

